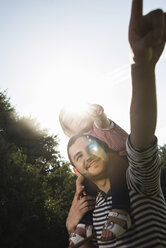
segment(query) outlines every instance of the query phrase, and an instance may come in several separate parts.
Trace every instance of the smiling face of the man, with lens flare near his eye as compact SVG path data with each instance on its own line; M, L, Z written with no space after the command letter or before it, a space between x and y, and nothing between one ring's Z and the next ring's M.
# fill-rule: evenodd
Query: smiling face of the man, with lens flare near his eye
M106 171L109 154L88 136L78 138L69 148L69 154L76 169L89 179L98 178Z

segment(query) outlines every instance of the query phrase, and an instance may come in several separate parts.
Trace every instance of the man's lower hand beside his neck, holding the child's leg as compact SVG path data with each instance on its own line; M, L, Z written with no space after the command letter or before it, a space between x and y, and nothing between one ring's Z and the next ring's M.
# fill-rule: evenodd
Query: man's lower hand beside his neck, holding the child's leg
M79 224L84 214L94 209L95 197L85 195L82 182L83 177L78 177L76 181L76 193L66 220L66 227L69 234L74 232L75 227Z

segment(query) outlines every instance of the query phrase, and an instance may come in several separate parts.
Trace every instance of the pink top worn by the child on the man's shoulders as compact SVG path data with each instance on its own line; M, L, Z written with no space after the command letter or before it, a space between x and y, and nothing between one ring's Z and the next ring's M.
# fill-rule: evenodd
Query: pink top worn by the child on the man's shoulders
M89 135L104 141L109 148L118 152L120 156L127 155L126 139L128 134L112 120L110 120L110 126L107 129L98 128L96 124L94 124Z

